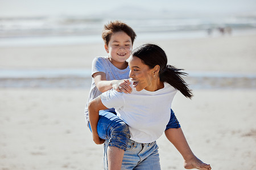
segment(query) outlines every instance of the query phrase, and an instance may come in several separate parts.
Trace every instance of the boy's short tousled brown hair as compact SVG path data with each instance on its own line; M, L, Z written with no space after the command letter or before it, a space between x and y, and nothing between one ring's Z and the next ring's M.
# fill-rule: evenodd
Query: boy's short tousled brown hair
M104 40L105 44L108 45L112 34L119 31L125 32L131 38L131 44L133 44L137 36L133 31L133 28L118 20L104 25L104 30L102 31L102 39Z

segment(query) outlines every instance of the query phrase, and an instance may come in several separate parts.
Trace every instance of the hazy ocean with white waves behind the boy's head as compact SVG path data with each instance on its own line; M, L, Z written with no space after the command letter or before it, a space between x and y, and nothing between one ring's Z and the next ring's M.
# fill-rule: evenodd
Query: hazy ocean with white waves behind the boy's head
M69 45L102 42L103 16L0 16L0 47ZM256 16L122 18L137 40L192 39L256 33ZM220 31L223 28L224 32Z

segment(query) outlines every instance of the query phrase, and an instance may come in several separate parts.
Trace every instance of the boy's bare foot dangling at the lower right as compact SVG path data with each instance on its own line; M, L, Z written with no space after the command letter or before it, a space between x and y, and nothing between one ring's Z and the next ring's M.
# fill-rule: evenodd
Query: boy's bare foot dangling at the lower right
M193 157L189 160L185 160L184 162L185 169L202 169L202 170L210 170L212 169L209 164L203 163L200 159Z

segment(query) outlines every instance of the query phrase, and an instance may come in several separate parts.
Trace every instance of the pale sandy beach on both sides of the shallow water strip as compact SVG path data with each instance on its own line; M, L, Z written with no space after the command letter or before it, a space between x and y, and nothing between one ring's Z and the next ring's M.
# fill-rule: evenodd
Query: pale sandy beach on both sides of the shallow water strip
M171 65L200 73L256 74L256 35L151 41ZM148 41L135 41L134 48ZM90 69L102 44L1 47L1 69ZM241 82L237 82L241 83ZM256 169L256 88L193 90L172 108L194 154L212 169ZM102 145L86 127L88 88L0 88L0 169L103 169ZM162 169L184 169L164 135Z

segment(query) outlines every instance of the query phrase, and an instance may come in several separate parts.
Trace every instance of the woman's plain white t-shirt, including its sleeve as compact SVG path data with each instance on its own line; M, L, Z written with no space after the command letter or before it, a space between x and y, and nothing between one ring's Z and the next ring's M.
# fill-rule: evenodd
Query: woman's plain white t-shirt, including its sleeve
M139 143L156 141L170 120L171 103L177 90L168 83L158 91L136 91L131 94L109 90L101 95L102 104L115 108L117 115L129 126L131 140Z

